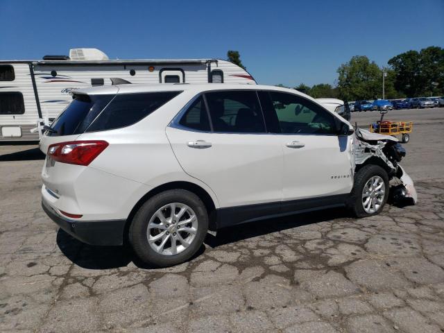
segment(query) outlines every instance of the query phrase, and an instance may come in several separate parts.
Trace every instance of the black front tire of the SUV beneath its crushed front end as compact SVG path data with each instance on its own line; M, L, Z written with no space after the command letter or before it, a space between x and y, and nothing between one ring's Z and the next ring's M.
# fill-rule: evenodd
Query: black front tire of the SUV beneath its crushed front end
M379 179L378 179L379 178ZM369 192L368 182L370 180L379 180L380 183L384 184L382 189L384 191L383 194L380 194L380 190L370 191L372 195L378 193L375 196L375 204L370 203L370 210L364 209L364 187L366 187L366 191ZM373 196L370 197L370 202L373 201ZM368 198L367 197L367 198ZM378 202L378 198L380 202ZM368 164L359 169L357 174L355 175L355 185L353 185L352 193L350 196L350 210L352 214L356 217L366 217L373 216L379 214L382 211L386 201L388 198L388 176L387 173L382 167L379 167L375 164ZM375 210L373 210L373 207Z

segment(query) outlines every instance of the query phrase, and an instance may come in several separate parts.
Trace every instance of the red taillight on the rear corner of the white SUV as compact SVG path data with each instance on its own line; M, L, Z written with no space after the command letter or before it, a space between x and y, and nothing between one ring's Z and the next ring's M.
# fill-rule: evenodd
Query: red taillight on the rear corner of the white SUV
M51 144L47 155L56 162L89 165L108 147L106 141L70 141Z

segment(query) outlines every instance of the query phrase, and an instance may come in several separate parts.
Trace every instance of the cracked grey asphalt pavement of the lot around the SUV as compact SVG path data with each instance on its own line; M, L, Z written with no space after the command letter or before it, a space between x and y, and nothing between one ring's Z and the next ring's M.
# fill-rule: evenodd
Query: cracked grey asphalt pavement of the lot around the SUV
M37 148L0 146L0 331L444 332L444 110L430 114L402 163L418 205L226 228L162 269L58 230Z

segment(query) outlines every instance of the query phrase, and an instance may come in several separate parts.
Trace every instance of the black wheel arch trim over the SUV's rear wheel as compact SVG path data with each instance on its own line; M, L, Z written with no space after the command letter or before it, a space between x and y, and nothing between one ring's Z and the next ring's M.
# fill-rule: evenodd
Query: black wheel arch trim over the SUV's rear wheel
M217 229L216 205L214 204L214 200L212 199L210 194L208 194L208 192L205 189L203 189L203 187L200 187L199 185L196 185L193 182L174 181L174 182L167 182L165 184L159 185L159 186L151 189L150 191L148 191L148 193L146 193L144 196L142 196L142 198L140 198L139 201L137 201L137 203L135 204L135 206L131 210L130 214L128 215L128 219L126 219L126 225L125 225L125 230L124 230L124 234L123 234L124 239L128 239L128 231L129 231L131 222L133 221L133 217L135 216L137 210L139 210L139 208L142 207L142 205L144 203L146 203L146 201L149 198L152 198L156 194L159 194L163 191L168 191L169 189L186 189L187 191L190 191L190 192L196 194L196 196L198 196L200 198L200 200L203 201L203 204L205 205L205 208L207 209L208 220L209 220L208 229L212 230L212 231L215 231Z

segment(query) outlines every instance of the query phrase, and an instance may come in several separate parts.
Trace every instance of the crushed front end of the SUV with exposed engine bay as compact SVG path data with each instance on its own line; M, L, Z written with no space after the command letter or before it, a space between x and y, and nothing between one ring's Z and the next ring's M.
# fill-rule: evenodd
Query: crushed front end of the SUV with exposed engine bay
M355 126L353 149L355 171L366 163L381 165L391 180L389 198L392 203L401 206L416 204L418 194L413 186L413 180L399 164L406 151L396 137L370 133Z

